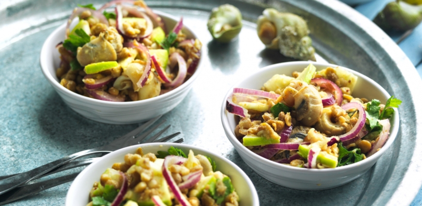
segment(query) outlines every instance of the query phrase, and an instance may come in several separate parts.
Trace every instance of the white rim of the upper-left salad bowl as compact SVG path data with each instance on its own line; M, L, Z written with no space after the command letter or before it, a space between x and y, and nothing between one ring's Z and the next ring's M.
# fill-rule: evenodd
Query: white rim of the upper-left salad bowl
M177 18L173 15L161 12L161 11L156 11L154 10L154 13L158 14L159 16L174 20L175 22L178 22L179 20L177 20ZM147 104L151 104L155 101L162 101L162 100L166 100L167 98L177 95L178 93L180 93L181 91L185 90L186 88L189 88L188 86L190 84L193 83L193 81L199 76L200 71L202 71L201 69L201 63L202 63L202 58L199 58L199 62L198 65L196 66L195 72L194 74L185 82L183 82L179 87L177 87L176 89L171 90L170 92L164 93L162 95L158 95L149 99L143 99L143 100L138 100L138 101L129 101L129 102L112 102L112 101L105 101L105 100L99 100L99 99L95 99L95 98L90 98L90 97L86 97L80 94L77 94L75 92L72 92L68 89L66 89L65 87L63 87L62 85L60 85L60 83L53 77L53 75L49 72L49 66L48 63L49 61L53 61L50 57L49 57L49 51L51 51L51 49L55 49L55 48L49 48L49 43L53 41L53 38L56 37L57 35L60 35L61 32L63 32L65 30L66 27L66 23L62 24L61 26L59 26L58 28L56 28L53 32L50 33L50 35L47 37L46 41L43 43L43 46L41 48L41 52L40 52L40 65L41 65L41 71L44 74L44 77L50 82L50 84L56 88L56 90L60 90L60 92L64 93L65 95L71 96L72 98L80 101L80 102L92 102L95 103L97 105L100 106L141 106L141 105L147 105ZM193 32L189 27L186 26L186 24L183 24L183 29L182 30L187 30L188 32L191 32L193 35L193 38L198 38L198 36L195 34L195 32ZM58 43L57 43L58 44ZM53 44L55 45L55 44ZM202 47L200 49L200 53L202 54L203 50ZM201 55L202 56L202 55ZM53 68L54 71L56 70L56 68Z

